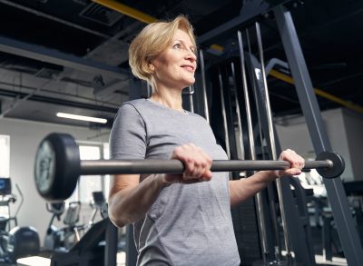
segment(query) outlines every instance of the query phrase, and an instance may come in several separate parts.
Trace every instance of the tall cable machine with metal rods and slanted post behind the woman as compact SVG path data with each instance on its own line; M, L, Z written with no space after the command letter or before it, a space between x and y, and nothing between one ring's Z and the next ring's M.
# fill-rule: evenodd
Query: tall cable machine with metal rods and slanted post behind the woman
M205 50L207 49L200 52L200 72L202 73L197 76L196 97L201 107L197 108L198 113L211 121L211 126L217 139L225 147L231 160L236 159L238 156L238 151L236 151L238 139L240 139L241 147L239 149L243 158L262 156L263 159L277 159L277 154L280 153L280 143L272 123L260 25L258 23L260 19L264 19L263 15L270 13L274 15L277 22L282 44L288 58L289 68L295 80L299 103L309 127L315 152L318 154L323 151L330 151L329 139L325 129L322 127L323 123L319 105L316 95L313 93L295 26L289 10L283 5L290 1L273 1L272 4L270 3L272 1L263 2L266 4L264 5L265 9L260 10L256 8L254 12L253 9L250 9L249 15L244 13L245 15L240 15L199 37L199 44L205 47L206 44L210 44L217 36L221 37L227 33L237 32L236 39L239 44L239 51L229 51L231 53L227 56L227 59L212 59L209 62L205 60ZM250 50L250 34L249 31L245 31L245 37L243 37L241 31L250 27L250 25L254 25L254 30L256 31L259 59L251 54L250 51L245 52L243 50L244 47ZM200 87L201 90L199 90ZM255 103L248 103L249 90L254 94ZM240 94L243 94L243 96ZM207 99L210 101L208 102ZM233 99L240 100L234 102ZM242 99L244 99L245 103L242 103ZM241 106L246 107L245 113L241 112ZM243 118L240 118L241 113L243 113ZM256 118L258 119L257 123L253 123L256 122ZM243 136L236 138L234 132L236 127L239 128L238 131L241 134L242 132L244 133ZM248 136L246 132L249 133ZM255 141L258 141L256 145ZM238 176L234 174L231 178L238 178ZM352 215L349 211L342 182L337 178L332 180L324 179L324 183L348 264L358 266L359 261L363 260L363 251ZM298 195L299 193L293 194L291 192L290 184L293 184L295 187L299 186L289 178L281 179L275 186L269 186L266 192L261 192L254 202L244 203L244 207L248 204L254 204L256 212L253 212L252 216L254 217L252 218L236 218L239 225L236 226L235 224L235 232L237 241L242 243L239 245L242 263L248 265L256 263L256 260L260 260L264 265L269 263L285 265L292 264L294 261L306 265L315 265L306 201L303 199L303 193ZM305 206L303 206L304 204ZM270 208L266 208L266 206L270 206ZM238 213L246 213L247 211L242 210ZM276 217L277 213L279 213L279 217ZM236 220L236 216L238 217L239 214L233 215L234 220ZM280 242L280 232L277 225L278 219L280 219L282 224L282 242ZM250 250L246 248L247 246L252 246L250 243L247 243L248 234L239 231L239 226L246 228L243 225L243 222L246 223L246 220L250 221L250 223L254 221L253 224L255 226L250 227L250 232L258 231L260 233L259 249L255 247L251 251L252 248ZM244 233L244 240L240 240L240 233L242 235ZM281 260L282 245L286 251L285 260ZM292 251L295 254L295 258L292 258ZM259 256L255 255L256 258L249 258L249 256L252 257L251 253L254 255L257 253Z

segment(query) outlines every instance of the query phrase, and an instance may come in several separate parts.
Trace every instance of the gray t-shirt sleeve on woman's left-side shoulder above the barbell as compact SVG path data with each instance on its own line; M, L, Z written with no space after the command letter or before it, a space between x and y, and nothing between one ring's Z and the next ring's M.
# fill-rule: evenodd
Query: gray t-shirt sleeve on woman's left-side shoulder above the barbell
M110 134L110 158L144 159L146 130L141 114L132 104L123 104L113 122Z

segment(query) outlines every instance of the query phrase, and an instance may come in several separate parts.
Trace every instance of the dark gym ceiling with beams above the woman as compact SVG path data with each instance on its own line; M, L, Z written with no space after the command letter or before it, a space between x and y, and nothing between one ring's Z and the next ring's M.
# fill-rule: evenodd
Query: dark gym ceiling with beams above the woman
M266 62L272 58L286 61L286 57L265 2L289 2L314 86L347 103L348 108L363 105L362 1L103 2L121 3L156 19L188 15L198 36L254 10ZM132 75L127 50L144 25L91 0L0 0L1 117L94 126L55 116L57 112L76 113L106 118L110 123L104 126L110 127L120 103L129 99ZM218 53L208 49L206 63L228 56L235 43L234 34L227 33L201 44L203 48L224 47ZM274 76L268 77L268 84L275 115L300 113L291 84ZM323 110L342 106L331 98L318 99ZM359 108L353 112L362 113Z

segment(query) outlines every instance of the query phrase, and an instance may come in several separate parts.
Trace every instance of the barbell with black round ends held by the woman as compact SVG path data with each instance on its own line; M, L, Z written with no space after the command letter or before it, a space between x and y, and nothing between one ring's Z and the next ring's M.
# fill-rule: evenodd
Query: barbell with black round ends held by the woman
M344 171L344 160L337 153L320 153L316 161L305 162L305 170L317 169L325 178L338 177ZM286 161L216 160L211 172L283 170ZM179 160L83 160L74 138L66 133L51 133L39 144L35 156L34 179L37 191L49 202L69 198L81 175L177 173L183 172Z

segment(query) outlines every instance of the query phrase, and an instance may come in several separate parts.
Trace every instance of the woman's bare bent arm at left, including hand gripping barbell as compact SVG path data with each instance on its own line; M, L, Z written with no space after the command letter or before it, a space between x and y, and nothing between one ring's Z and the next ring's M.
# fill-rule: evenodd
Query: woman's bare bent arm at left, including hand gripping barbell
M140 175L122 174L112 178L109 215L118 227L141 219L158 198L162 188L175 182L191 183L211 180L211 158L194 144L177 147L172 159L185 165L182 174L152 174L140 182Z

